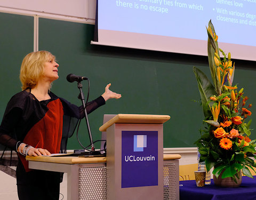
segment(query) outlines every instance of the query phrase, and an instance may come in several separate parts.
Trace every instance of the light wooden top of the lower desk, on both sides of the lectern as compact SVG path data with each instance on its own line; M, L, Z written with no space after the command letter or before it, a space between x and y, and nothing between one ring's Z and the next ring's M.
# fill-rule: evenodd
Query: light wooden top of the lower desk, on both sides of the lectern
M169 161L172 159L180 159L179 154L164 154L164 161ZM62 163L62 164L90 164L90 163L106 163L106 157L77 157L77 156L67 156L67 157L55 157L55 156L26 156L27 161L37 161L37 162L47 162L47 163Z

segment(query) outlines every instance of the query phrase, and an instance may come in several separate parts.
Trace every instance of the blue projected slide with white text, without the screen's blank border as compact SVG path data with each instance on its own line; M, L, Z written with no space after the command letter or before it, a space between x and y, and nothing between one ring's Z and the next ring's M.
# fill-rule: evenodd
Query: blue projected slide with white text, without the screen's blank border
M256 0L99 0L98 29L256 46Z

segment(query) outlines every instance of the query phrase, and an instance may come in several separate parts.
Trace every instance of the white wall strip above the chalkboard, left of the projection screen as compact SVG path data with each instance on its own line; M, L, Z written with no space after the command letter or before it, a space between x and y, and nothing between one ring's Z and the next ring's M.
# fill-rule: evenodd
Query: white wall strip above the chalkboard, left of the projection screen
M82 23L94 23L95 10L96 0L0 0L0 12Z

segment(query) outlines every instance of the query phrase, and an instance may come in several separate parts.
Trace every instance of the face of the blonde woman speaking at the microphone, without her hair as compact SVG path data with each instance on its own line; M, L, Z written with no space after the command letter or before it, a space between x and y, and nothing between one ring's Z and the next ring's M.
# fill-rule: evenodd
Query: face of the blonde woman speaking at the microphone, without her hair
M53 58L49 58L49 60L47 60L44 63L43 78L45 78L46 81L51 81L51 82L58 79L59 78L58 67L59 67L59 64L55 62Z

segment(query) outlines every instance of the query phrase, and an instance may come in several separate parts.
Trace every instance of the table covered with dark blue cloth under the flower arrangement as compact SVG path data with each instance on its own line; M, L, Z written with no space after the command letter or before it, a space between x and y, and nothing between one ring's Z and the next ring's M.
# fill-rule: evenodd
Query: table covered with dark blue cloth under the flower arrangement
M180 200L255 200L256 199L256 176L254 179L242 177L241 186L237 188L225 188L211 185L197 187L195 180L180 181Z

